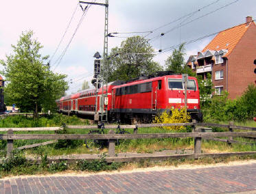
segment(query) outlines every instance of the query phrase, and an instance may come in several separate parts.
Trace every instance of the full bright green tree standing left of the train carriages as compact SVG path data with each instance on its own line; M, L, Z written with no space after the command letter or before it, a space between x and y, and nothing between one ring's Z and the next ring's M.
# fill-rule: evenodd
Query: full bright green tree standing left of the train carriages
M66 75L54 74L43 62L48 56L40 55L41 44L32 39L33 31L22 33L18 43L12 45L14 54L1 60L7 81L5 92L22 111L34 111L37 117L41 108L53 109L55 100L68 89Z

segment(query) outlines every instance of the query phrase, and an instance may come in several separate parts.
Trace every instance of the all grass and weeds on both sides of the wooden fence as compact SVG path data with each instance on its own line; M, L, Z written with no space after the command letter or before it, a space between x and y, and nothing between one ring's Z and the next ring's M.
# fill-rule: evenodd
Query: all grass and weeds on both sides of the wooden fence
M89 124L88 120L82 120L78 117L67 117L66 115L54 115L53 117L40 118L34 121L30 118L25 118L23 116L8 117L5 120L0 121L0 127L32 127L32 126L61 126L61 124L72 124L72 125L84 125ZM240 126L256 126L256 122L244 122L235 123ZM133 133L132 129L127 129L129 133ZM226 131L226 128L213 128L213 131ZM191 128L187 128L183 131L190 132ZM244 131L244 130L242 130ZM17 134L30 133L30 134L54 134L54 131L19 131L14 132ZM89 129L71 129L60 131L59 133L70 133L70 134L87 134ZM108 129L104 130L104 133L108 133ZM138 133L172 133L172 131L165 128L139 128ZM3 133L2 133L3 134ZM235 137L234 140L243 141L248 143L255 143L252 139L245 139L242 137ZM33 143L40 143L47 140L15 140L14 148L20 146L30 145ZM0 140L0 150L6 148L6 141ZM166 139L127 139L120 140L116 144L115 151L120 152L138 152L138 153L152 153L161 152L163 150L185 150L194 148L193 138L166 138ZM220 163L229 162L241 159L256 158L256 156L233 156L228 158L202 158L199 160L191 159L181 159L181 160L167 160L167 161L141 161L139 163L113 163L109 165L104 161L104 153L107 152L107 148L97 149L86 148L84 145L84 140L60 140L58 143L53 143L47 146L40 146L37 148L30 148L27 150L22 150L21 155L18 154L17 158L12 161L4 161L0 165L0 176L7 175L18 175L18 174L46 174L54 173L56 171L69 170L86 170L86 171L99 171L99 170L113 170L113 169L129 169L135 167L150 167L154 165L181 165L181 164L208 164L208 163ZM203 153L214 153L214 152L248 152L256 151L256 146L242 145L241 143L233 143L229 145L228 143L202 140L202 152ZM101 161L95 161L89 163L87 161L80 161L79 163L67 164L67 161L60 161L59 163L47 162L47 156L58 156L63 154L102 154ZM24 161L25 156L32 155L35 157L45 158L45 161L41 164L27 163ZM5 152L0 151L0 157L5 156Z

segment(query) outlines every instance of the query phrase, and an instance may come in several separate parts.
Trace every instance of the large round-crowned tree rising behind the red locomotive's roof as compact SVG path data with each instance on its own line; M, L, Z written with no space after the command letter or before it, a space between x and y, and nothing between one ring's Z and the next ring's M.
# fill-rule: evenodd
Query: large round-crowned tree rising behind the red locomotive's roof
M154 49L148 40L141 36L133 36L121 42L120 47L112 48L110 59L107 61L108 81L117 79L128 81L162 70L162 67L152 61ZM104 68L106 69L106 68Z

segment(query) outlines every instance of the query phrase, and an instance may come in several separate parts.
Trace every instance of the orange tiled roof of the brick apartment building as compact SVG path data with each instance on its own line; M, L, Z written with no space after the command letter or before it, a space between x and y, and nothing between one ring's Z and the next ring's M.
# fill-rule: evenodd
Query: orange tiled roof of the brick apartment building
M255 23L253 23L255 25ZM247 31L248 27L250 27L252 23L247 26L247 23L242 25L237 25L235 27L231 27L224 31L220 31L211 42L205 46L202 50L202 53L206 52L207 50L211 51L220 51L222 49L228 50L224 57L230 55L233 51L237 43L240 41L244 33Z

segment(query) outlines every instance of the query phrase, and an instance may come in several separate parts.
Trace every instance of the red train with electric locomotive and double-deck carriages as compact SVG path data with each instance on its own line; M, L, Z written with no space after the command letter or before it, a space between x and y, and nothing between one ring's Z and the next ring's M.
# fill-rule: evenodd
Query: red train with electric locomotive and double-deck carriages
M97 96L96 89L86 89L77 94L64 96L56 100L58 111L80 115L101 115L100 103L108 111L108 120L131 120L148 122L166 109L181 108L185 105L184 84L181 74L160 74L155 77L140 77L124 83L114 81L108 84L107 97L102 99L102 87ZM187 111L191 117L202 121L198 82L195 77L188 77Z

